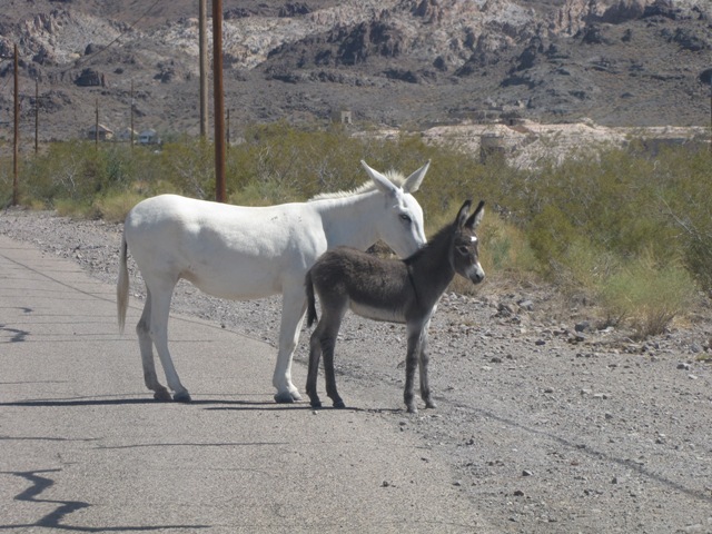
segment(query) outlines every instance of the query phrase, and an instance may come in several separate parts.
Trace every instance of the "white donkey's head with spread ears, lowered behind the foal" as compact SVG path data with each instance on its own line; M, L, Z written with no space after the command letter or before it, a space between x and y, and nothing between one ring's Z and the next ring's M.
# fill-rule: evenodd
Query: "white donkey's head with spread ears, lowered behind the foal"
M428 160L411 176L402 179L402 185L397 185L398 180L394 175L385 176L368 167L363 160L362 165L385 197L386 210L377 224L378 237L399 257L411 256L427 243L423 225L423 208L413 194L421 187L431 161Z

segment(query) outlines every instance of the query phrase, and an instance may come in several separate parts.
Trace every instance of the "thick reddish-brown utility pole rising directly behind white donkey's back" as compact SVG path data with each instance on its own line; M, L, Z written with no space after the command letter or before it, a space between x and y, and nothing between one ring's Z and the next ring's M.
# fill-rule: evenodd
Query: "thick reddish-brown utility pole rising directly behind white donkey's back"
M225 97L222 95L222 0L212 0L212 91L215 121L215 199L225 202Z

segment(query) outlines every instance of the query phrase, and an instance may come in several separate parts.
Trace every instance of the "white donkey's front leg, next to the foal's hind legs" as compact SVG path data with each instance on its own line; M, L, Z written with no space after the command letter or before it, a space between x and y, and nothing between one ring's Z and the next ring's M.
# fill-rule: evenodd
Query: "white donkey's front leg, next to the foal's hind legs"
M299 340L304 314L307 309L307 296L304 281L287 287L281 303L281 326L279 328L279 352L271 383L277 388L275 402L294 403L301 400L299 390L291 383L291 357Z

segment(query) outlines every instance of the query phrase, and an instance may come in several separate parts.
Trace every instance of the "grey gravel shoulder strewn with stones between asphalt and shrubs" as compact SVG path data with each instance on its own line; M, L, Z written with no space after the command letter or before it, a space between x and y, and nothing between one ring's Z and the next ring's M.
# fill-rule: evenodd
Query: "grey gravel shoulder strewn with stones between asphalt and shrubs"
M121 225L8 210L0 234L116 284ZM220 300L180 283L172 309L276 345L277 297ZM438 408L409 416L404 327L349 315L337 344L339 392L415 435L423 462L446 458L453 484L500 532L712 533L712 312L644 343L577 332L585 318L542 288L485 283L474 297L446 294L431 327ZM295 357L301 388L307 337ZM266 387L270 378L255 377Z

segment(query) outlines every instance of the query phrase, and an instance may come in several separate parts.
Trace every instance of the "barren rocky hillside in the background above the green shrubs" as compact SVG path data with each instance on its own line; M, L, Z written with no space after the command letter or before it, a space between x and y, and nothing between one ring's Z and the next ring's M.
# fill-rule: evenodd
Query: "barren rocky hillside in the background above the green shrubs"
M11 131L14 43L23 135L33 135L34 80L42 139L83 135L97 106L118 134L131 95L137 130L196 135L197 3L4 0L0 138ZM338 110L418 129L503 116L710 122L709 0L224 0L224 13L233 131Z

